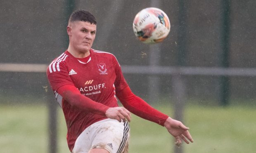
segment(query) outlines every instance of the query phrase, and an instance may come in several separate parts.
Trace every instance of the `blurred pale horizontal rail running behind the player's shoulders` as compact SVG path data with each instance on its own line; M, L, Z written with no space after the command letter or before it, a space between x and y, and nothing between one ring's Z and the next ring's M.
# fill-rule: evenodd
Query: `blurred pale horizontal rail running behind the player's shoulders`
M46 64L0 63L0 72L46 72ZM239 67L173 67L173 66L122 66L125 74L181 74L211 76L256 76L256 68Z

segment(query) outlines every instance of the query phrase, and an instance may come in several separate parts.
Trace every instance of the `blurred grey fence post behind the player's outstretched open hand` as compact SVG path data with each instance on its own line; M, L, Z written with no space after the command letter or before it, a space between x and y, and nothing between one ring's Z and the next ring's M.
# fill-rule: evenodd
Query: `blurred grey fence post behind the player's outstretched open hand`
M174 100L174 119L183 122L183 111L185 106L185 83L180 74L172 75L173 83L173 100ZM174 153L183 153L180 146L174 147Z

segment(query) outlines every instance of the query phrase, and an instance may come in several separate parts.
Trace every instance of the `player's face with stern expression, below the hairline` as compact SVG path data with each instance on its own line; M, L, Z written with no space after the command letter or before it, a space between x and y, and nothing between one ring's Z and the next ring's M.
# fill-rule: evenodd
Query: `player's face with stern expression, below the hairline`
M70 43L75 51L88 52L95 39L96 25L89 22L75 21L69 25L69 28Z

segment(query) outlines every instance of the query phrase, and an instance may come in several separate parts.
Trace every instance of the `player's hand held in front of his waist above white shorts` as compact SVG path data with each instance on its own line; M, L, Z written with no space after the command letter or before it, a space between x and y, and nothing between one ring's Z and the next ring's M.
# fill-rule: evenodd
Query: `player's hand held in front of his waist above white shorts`
M116 119L117 121L131 121L130 111L125 109L124 107L110 107L107 109L105 115L107 118Z

